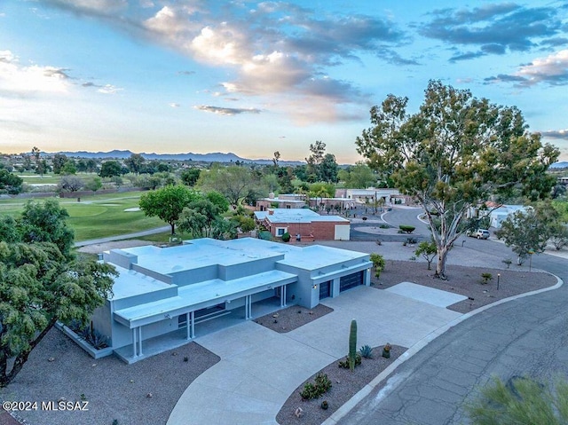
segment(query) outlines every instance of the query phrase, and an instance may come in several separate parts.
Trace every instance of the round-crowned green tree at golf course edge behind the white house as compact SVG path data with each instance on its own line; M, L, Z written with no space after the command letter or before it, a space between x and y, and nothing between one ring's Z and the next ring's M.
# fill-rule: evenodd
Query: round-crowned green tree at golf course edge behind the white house
M146 216L158 216L171 226L171 234L176 233L176 222L181 212L191 201L200 198L184 185L168 185L140 197L140 209Z

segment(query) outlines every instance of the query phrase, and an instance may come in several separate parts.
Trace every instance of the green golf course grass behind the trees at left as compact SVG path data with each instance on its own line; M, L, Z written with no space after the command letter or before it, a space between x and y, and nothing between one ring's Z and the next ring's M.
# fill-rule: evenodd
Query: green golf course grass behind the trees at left
M75 230L75 241L141 232L167 225L157 217L145 216L142 211L125 211L138 208L140 194L128 192L83 196L81 202L59 199L59 205L69 213L67 222ZM0 214L19 216L26 201L2 200Z

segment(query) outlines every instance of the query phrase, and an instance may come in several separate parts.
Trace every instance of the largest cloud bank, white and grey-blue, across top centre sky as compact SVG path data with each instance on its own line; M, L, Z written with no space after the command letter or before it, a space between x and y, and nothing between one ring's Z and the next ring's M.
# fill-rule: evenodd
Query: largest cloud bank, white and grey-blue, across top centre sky
M219 96L280 95L304 101L315 93L318 99L312 103L318 105L326 103L321 98L340 102L341 107L350 102L358 105L367 101L364 93L334 78L334 67L360 61L362 55L396 65L418 64L395 51L407 43L406 30L386 16L326 14L284 1L251 6L214 0L144 0L142 7L126 0L49 2L120 26L131 36L165 44L206 66L225 68L225 81L218 82L224 88Z

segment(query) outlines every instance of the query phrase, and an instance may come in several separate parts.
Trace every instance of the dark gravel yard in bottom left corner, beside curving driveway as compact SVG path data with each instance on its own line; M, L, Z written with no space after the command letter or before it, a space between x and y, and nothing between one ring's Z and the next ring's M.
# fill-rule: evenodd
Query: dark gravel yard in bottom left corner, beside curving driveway
M190 342L132 365L114 356L95 360L54 328L16 379L0 389L0 398L37 401L37 410L17 415L30 425L113 425L114 420L118 425L160 425L168 421L187 386L219 359ZM57 404L62 397L88 401L89 411L41 409L42 401Z

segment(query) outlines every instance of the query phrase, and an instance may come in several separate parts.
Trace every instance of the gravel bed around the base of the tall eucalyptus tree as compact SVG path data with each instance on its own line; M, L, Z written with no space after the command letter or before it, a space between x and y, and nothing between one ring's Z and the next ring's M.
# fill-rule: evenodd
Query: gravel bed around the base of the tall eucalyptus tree
M435 264L432 264L432 268L434 267ZM447 280L435 279L434 272L428 270L425 263L388 260L380 278L373 277L371 282L373 287L378 289L386 289L400 282L413 282L473 298L448 307L461 313L467 313L509 296L556 285L556 277L547 272L466 267L455 264L446 265ZM493 279L487 284L481 283L482 273L491 273ZM499 289L497 289L498 274L501 275Z

